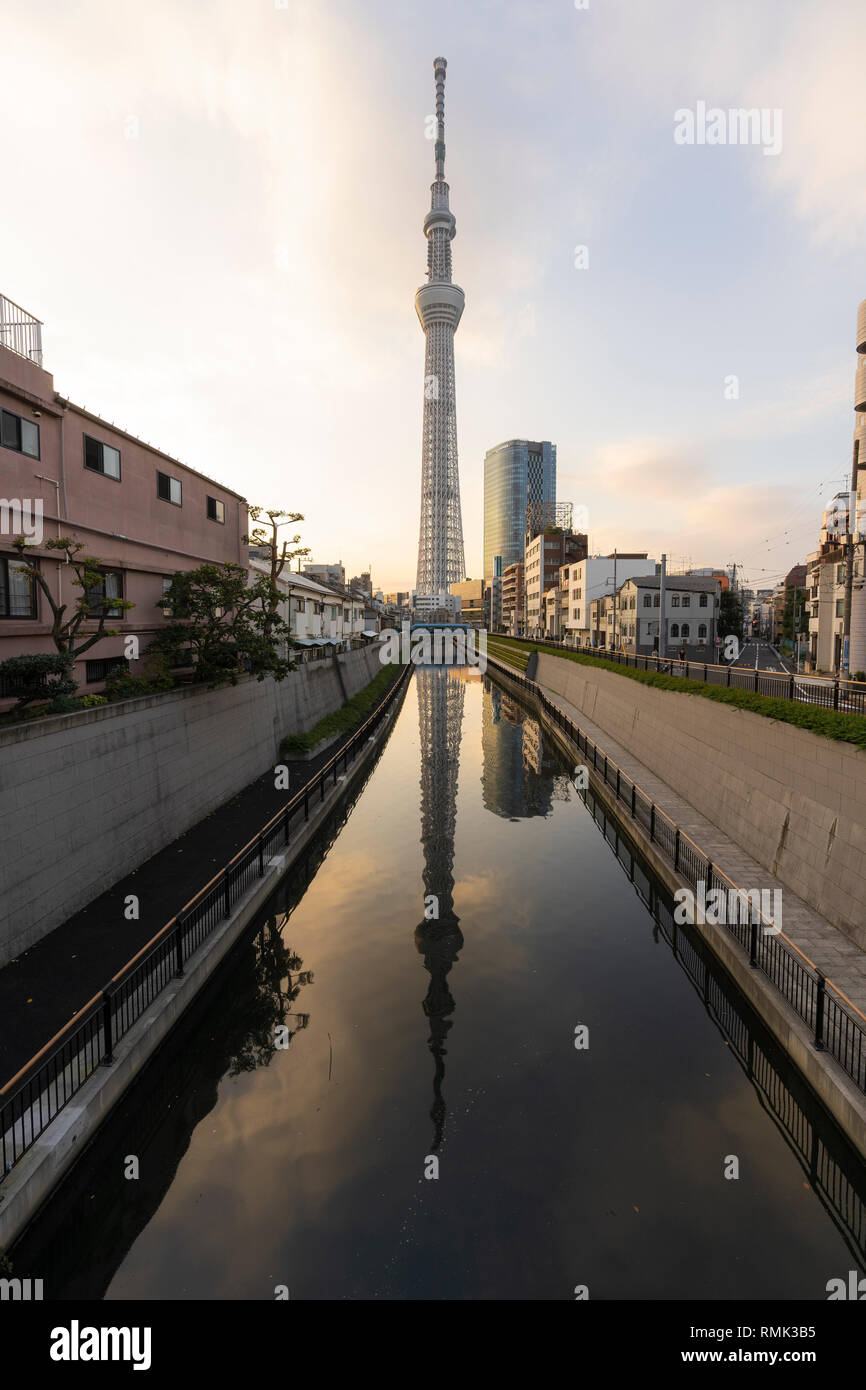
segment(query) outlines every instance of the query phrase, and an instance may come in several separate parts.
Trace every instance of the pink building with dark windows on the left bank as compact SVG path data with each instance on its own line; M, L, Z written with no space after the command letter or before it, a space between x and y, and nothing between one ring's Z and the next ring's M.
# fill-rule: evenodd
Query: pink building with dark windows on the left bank
M42 325L0 296L0 660L54 651L50 609L11 548L15 535L35 532L39 505L42 545L29 553L51 592L70 606L81 595L68 566L44 546L64 535L100 560L106 598L135 605L108 620L117 637L75 663L79 694L101 689L126 635L138 635L145 652L165 623L156 605L175 571L204 562L247 566L246 500L57 395L42 367ZM0 709L10 703L0 687Z

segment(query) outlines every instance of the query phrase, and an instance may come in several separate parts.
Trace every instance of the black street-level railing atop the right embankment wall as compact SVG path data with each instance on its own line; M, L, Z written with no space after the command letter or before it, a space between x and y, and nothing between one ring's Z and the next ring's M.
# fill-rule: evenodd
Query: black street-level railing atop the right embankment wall
M866 714L866 682L847 681L833 676L795 676L790 671L765 671L749 666L719 666L712 662L680 662L673 657L641 656L637 652L609 652L603 646L573 646L563 638L510 637L491 632L491 642L517 642L535 646L539 651L550 648L556 652L575 652L578 656L592 656L613 666L631 667L638 671L660 671L663 676L680 676L688 681L702 681L708 685L726 685L728 689L749 691L752 695L769 695L773 699L790 699L799 705L817 705L819 709L833 709L841 714Z

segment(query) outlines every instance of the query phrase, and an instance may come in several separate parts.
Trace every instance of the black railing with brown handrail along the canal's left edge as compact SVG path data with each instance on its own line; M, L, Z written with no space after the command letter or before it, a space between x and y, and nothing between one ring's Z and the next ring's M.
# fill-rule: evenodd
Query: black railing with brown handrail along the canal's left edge
M117 1042L165 986L185 973L192 954L264 877L265 862L291 844L295 821L310 819L310 803L325 799L325 785L336 785L341 766L346 773L410 674L407 664L343 748L79 1009L74 1020L0 1087L0 1183L96 1068L111 1063Z

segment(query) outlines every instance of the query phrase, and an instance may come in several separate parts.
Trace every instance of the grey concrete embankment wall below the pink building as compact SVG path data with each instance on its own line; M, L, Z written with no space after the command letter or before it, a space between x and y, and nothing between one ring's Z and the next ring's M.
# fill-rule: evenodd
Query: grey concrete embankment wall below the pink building
M378 648L284 681L183 688L0 731L0 966L278 760L381 670Z

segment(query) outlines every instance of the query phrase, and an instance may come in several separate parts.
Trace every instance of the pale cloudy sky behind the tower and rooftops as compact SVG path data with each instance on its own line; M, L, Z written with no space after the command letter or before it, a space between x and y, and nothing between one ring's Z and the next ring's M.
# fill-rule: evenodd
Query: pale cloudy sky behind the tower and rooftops
M7 0L0 291L61 393L410 588L442 53L467 573L541 438L592 550L771 584L851 470L863 51L862 0ZM699 101L780 153L678 145Z

